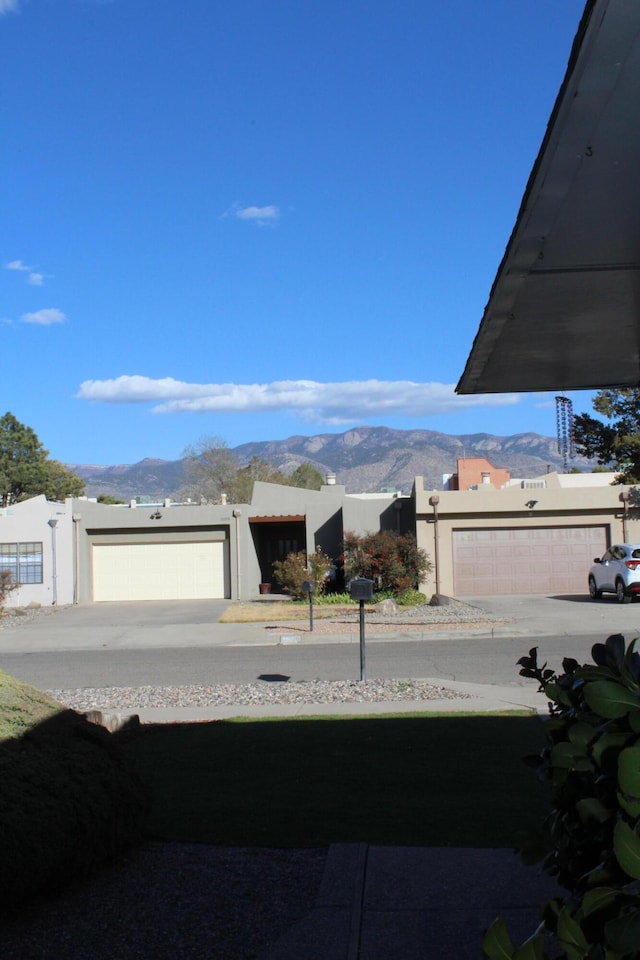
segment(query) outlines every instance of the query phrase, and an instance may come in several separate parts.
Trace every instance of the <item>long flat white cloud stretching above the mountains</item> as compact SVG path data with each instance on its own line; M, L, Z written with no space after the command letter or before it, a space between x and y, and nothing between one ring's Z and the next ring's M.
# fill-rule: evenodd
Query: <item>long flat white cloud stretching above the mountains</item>
M365 417L426 417L469 407L517 403L515 394L457 396L453 384L410 380L318 383L184 383L166 377L85 380L77 396L100 403L153 403L154 413L295 413L307 421L354 423Z

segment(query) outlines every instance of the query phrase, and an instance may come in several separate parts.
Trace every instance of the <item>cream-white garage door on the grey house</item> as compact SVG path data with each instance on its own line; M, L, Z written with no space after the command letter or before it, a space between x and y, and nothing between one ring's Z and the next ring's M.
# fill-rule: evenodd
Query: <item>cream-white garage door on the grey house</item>
M229 595L227 544L93 545L94 600L208 600Z

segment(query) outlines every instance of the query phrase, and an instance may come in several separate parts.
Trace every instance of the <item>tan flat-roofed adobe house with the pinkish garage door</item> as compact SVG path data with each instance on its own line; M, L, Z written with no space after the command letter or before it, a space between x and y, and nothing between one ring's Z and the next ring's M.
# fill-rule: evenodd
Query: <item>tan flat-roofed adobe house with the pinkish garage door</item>
M546 474L413 497L418 546L433 563L425 593L448 596L587 593L594 557L612 543L640 542L638 488L614 474Z

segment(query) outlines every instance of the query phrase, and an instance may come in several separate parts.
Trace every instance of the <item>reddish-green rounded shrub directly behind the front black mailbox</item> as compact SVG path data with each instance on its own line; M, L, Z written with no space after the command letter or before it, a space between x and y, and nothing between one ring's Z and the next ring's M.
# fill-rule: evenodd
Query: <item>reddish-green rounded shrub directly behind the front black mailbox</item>
M393 596L417 590L431 562L410 533L385 530L359 537L345 532L343 543L347 577L373 580L374 591Z

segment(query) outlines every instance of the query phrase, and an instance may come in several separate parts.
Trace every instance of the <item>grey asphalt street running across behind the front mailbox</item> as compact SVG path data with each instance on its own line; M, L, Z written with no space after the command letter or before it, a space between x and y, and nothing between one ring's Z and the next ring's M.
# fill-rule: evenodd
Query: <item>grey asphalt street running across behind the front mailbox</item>
M598 634L558 640L373 641L366 645L367 678L531 684L519 676L517 666L531 646L560 669L564 656L588 660L592 644L602 639ZM292 680L348 680L359 678L359 663L357 643L0 654L0 669L40 689L249 683L275 674Z

